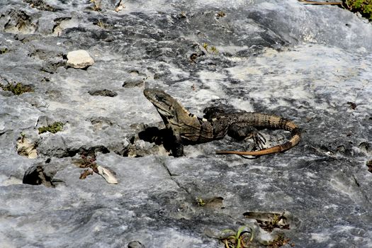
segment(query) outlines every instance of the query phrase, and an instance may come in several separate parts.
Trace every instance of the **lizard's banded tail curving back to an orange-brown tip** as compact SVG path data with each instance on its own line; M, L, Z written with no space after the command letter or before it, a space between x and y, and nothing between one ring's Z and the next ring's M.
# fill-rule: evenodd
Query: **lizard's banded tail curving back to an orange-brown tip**
M295 123L293 123L290 120L285 120L283 118L280 118L278 116L276 116L276 117L271 116L270 118L272 120L274 118L276 118L276 120L273 121L271 123L271 125L272 124L275 125L276 123L278 123L278 125L276 125L276 128L291 131L291 135L292 135L291 140L289 140L288 142L285 142L282 145L276 145L274 147L267 148L267 149L264 149L264 150L259 150L259 151L252 151L252 152L248 152L248 151L247 152L246 151L217 151L215 153L216 154L237 154L237 155L248 155L248 156L261 156L261 155L272 154L272 153L276 153L276 152L284 152L288 149L291 149L292 147L297 145L298 142L300 142L300 129L298 128L297 125L295 125ZM278 121L278 122L276 122L276 121Z

